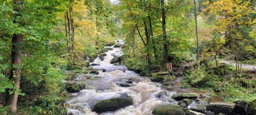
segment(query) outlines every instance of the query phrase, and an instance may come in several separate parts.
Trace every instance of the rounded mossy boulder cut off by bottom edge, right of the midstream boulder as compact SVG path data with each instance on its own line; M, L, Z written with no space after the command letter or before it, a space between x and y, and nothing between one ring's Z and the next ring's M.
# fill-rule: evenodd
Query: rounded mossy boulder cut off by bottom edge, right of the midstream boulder
M185 112L177 104L168 104L155 108L152 112L155 115L185 115Z

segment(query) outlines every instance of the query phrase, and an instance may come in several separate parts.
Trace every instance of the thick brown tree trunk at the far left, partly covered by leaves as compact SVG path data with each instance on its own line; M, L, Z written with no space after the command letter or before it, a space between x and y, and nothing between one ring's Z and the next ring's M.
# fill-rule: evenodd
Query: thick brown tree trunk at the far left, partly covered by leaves
M17 22L16 18L18 16L22 16L19 11L23 9L23 1L22 0L13 0L13 10L18 12L15 14L15 20L13 23L18 23L20 26L23 26L23 22ZM17 109L17 100L18 100L18 91L19 91L19 80L20 80L20 65L22 63L22 49L21 44L23 42L23 34L13 34L12 37L12 52L11 52L11 71L9 79L15 84L15 92L9 94L9 90L7 90L7 97L5 105L10 105L10 111L16 111Z

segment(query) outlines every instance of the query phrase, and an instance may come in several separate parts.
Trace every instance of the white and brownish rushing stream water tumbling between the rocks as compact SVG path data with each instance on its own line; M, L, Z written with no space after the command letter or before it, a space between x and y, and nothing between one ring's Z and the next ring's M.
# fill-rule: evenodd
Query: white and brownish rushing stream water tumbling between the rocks
M149 115L155 107L168 104L177 103L171 99L175 92L168 91L161 88L160 83L151 82L147 77L140 77L138 74L127 71L124 65L111 64L112 54L122 55L120 48L111 47L114 50L106 52L104 60L99 58L95 59L93 63L100 64L93 66L99 71L99 75L93 75L95 79L85 80L79 79L77 82L84 82L87 84L87 88L81 90L79 93L75 93L74 98L70 99L66 103L68 113L76 115L96 115L96 112L92 112L92 107L99 101L111 98L117 98L122 95L128 95L133 98L134 104L127 106L123 109L119 109L114 112L104 112L102 115ZM102 72L102 70L107 72ZM117 85L122 80L133 80L131 87L121 87ZM156 98L159 93L165 93L161 98Z

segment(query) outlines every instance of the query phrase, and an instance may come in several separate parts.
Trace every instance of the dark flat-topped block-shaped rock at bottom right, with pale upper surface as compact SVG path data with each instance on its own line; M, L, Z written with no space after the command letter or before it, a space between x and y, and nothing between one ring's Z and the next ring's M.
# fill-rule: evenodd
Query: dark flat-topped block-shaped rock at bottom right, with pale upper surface
M234 109L234 105L229 103L218 102L218 103L210 103L206 105L207 111L215 112L217 114L225 113L229 115L229 114L232 114L233 109Z

